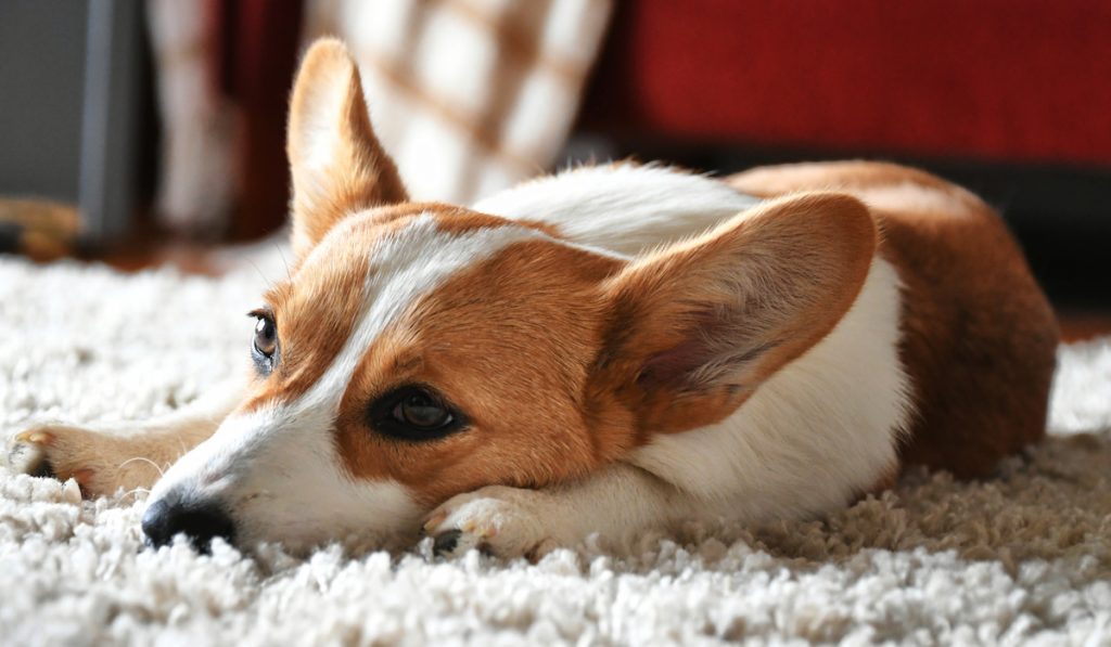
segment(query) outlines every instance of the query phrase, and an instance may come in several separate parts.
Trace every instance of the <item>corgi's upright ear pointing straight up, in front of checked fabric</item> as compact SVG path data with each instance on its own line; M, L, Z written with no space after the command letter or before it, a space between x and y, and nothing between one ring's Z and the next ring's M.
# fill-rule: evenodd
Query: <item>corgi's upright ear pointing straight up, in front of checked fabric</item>
M359 68L338 40L318 40L301 61L286 151L299 257L346 215L408 200L397 165L370 127Z

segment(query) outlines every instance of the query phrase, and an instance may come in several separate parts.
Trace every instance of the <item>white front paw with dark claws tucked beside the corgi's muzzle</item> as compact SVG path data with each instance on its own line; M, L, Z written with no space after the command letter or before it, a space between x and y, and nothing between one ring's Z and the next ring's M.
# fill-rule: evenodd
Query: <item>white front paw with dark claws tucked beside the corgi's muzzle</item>
M437 555L460 556L471 548L511 559L534 559L554 548L543 512L546 495L492 485L460 494L436 508L424 524Z

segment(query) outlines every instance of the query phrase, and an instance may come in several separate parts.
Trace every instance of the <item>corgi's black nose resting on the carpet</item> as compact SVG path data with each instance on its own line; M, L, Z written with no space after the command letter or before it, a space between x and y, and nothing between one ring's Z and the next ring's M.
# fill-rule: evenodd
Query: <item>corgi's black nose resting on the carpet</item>
M172 493L156 501L142 515L142 532L147 543L156 548L166 546L182 533L197 550L209 552L209 544L220 537L231 543L236 526L228 513L211 501L174 496Z

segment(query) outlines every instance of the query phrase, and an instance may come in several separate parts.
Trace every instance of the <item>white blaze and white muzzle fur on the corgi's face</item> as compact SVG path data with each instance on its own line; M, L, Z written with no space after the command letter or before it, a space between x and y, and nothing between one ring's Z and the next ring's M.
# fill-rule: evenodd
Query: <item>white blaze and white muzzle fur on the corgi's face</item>
M344 229L330 233L328 244L339 243L333 236ZM217 497L248 536L258 535L251 538L309 540L308 532L326 538L341 528L373 530L414 520L408 518L417 514L414 506L400 485L347 476L331 434L343 393L367 348L418 300L500 250L541 237L518 225L446 232L422 214L382 239L371 252L352 333L321 377L296 401L229 416L167 472L151 501L178 486Z

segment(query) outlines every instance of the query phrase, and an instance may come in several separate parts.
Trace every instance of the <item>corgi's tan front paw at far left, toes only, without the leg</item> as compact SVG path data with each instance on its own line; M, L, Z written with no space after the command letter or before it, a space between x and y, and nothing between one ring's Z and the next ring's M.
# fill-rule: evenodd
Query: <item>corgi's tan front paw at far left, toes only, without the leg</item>
M149 465L129 465L121 456L119 439L91 429L42 425L17 434L8 451L9 467L20 474L72 478L86 498L108 496L150 478Z

